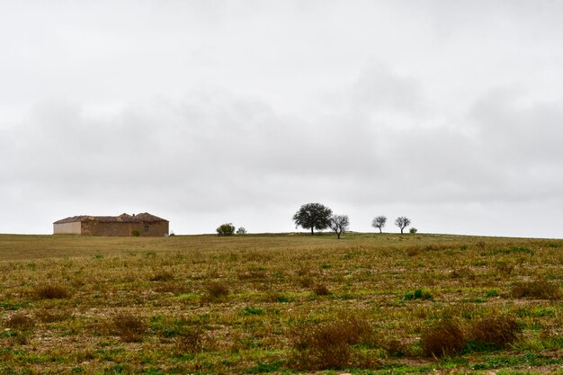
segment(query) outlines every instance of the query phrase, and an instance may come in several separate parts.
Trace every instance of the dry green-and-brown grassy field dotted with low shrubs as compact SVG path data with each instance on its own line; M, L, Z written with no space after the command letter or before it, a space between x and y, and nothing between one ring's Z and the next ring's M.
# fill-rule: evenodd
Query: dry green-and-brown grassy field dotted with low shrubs
M0 373L559 373L563 240L0 235Z

